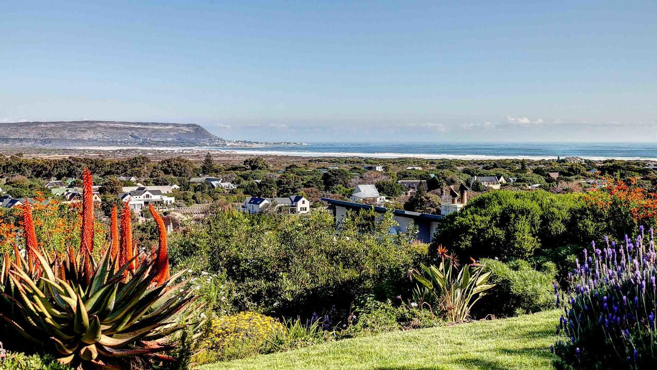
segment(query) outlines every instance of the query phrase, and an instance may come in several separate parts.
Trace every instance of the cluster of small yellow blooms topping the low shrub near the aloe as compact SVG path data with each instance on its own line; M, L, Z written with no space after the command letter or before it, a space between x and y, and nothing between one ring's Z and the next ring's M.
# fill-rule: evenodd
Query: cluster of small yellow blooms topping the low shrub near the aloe
M235 346L260 348L274 330L283 325L273 317L255 312L240 312L235 315L212 319L212 329L205 341L205 348L219 352L230 351Z

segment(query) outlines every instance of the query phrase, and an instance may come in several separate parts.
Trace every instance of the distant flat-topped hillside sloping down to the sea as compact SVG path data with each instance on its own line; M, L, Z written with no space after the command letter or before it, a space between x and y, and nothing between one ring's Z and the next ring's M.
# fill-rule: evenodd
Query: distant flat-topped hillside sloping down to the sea
M80 120L0 123L0 145L21 147L248 145L198 124Z

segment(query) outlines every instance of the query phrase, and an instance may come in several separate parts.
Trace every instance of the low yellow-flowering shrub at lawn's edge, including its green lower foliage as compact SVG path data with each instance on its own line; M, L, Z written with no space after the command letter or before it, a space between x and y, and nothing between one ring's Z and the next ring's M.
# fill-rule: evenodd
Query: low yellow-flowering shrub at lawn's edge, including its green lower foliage
M204 342L208 353L197 357L199 363L237 359L264 352L267 339L283 325L273 317L255 312L212 319L210 333Z

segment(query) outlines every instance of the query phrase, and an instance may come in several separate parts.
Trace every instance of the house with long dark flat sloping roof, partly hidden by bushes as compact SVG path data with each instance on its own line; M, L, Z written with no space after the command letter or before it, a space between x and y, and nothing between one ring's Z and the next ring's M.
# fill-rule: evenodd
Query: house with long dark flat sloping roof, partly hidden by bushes
M342 217L346 215L347 211L373 209L376 211L376 213L380 214L379 217L383 217L384 213L391 211L394 220L399 225L391 227L390 234L405 232L407 228L412 224L418 228L417 239L424 243L431 242L434 236L434 232L436 232L436 228L438 227L438 223L442 222L445 218L443 215L431 215L429 213L404 211L403 209L388 209L386 207L378 207L363 203L356 203L353 201L344 201L330 198L321 198L321 200L328 203L329 208L333 211L335 221L338 224L340 221L342 221Z

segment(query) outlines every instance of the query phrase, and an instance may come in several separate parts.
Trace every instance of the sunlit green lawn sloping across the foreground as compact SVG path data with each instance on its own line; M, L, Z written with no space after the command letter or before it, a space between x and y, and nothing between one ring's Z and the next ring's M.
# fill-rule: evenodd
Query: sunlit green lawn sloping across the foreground
M213 363L200 370L553 369L558 311L431 329L390 332L290 352Z

